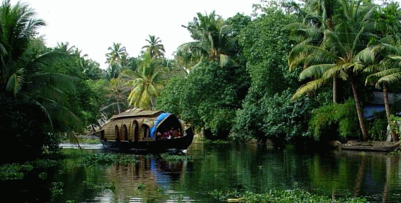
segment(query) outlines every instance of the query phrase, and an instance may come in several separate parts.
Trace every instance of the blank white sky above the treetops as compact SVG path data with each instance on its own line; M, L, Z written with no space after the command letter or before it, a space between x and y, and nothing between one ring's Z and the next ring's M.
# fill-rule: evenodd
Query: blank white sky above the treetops
M11 1L15 3L17 0ZM113 42L127 49L129 56L139 55L148 35L162 40L166 58L172 58L180 44L191 42L182 25L191 22L196 13L216 10L224 19L236 13L251 15L253 3L260 0L22 0L36 10L47 26L39 29L47 47L69 42L88 54L100 67L107 68L104 56Z

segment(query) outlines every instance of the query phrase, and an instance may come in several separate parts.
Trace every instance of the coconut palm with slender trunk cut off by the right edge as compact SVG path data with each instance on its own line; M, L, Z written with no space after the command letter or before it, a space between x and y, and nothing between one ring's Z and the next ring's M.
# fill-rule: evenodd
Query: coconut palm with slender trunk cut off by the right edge
M401 9L398 3L390 3L377 13L376 19L377 31L380 35L384 35L380 42L376 42L366 47L362 52L365 57L365 63L370 64L365 68L364 72L370 75L366 77L366 85L374 85L376 88L382 88L384 106L386 109L386 117L390 127L391 139L396 141L391 124L391 111L388 101L387 87L392 83L401 81L401 38L400 32Z

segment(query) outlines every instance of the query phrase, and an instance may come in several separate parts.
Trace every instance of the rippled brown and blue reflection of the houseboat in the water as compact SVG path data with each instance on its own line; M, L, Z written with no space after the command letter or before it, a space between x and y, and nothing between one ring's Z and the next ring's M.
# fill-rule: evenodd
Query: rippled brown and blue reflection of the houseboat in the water
M165 161L155 156L139 156L136 165L116 165L107 168L104 178L112 182L113 190L103 190L96 202L198 202L191 193L183 193L187 161ZM208 202L208 201L207 201Z

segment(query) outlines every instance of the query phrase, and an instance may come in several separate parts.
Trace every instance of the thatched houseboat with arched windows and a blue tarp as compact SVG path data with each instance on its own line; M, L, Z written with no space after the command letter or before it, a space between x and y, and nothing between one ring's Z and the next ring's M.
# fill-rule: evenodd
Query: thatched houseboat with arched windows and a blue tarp
M184 123L171 113L132 108L113 115L97 135L109 149L166 151L187 149L194 131L193 127L184 130Z

